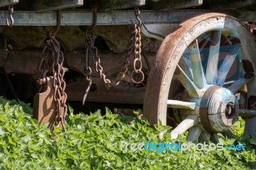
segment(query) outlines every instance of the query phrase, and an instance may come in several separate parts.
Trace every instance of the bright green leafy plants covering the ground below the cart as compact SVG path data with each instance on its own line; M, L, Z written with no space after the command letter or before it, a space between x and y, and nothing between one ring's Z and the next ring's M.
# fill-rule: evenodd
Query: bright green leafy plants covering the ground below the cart
M47 125L31 118L29 104L0 97L0 169L250 169L256 166L256 139L242 137L244 121L232 127L237 137L224 144L245 144L246 151L132 151L120 150L120 142L186 143L186 134L163 141L157 135L170 127L156 129L145 118L113 114L106 109L93 114L67 116L65 132L56 127L56 140ZM134 112L139 114L139 112ZM133 123L129 123L130 121Z

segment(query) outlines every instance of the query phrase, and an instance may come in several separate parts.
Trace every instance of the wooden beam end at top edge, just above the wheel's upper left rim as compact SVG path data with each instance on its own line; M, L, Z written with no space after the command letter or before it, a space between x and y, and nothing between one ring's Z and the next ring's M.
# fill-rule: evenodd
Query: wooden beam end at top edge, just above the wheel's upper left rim
M177 10L202 4L203 0L160 0L148 2L148 6L153 10Z

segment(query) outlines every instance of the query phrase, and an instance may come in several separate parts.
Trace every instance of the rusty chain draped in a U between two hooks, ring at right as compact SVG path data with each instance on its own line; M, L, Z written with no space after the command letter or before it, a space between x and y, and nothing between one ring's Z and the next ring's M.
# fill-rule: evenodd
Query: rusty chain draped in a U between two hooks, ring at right
M103 68L100 65L100 58L98 56L98 49L94 46L94 29L97 24L97 7L93 8L93 26L89 27L85 31L85 39L88 45L85 45L85 65L83 74L86 76L86 81L88 82L88 86L86 87L86 91L84 93L83 97L83 104L86 100L86 96L88 95L88 92L90 90L90 86L92 84L92 79L90 77L92 73L92 69L89 66L89 56L92 56L92 61L95 64L95 70L96 72L99 72L100 78L104 81L104 84L107 89L112 88L113 86L117 86L125 77L125 74L128 70L128 65L130 63L130 59L132 54L134 54L134 72L131 73L132 81L135 83L141 83L144 79L144 74L141 71L142 63L141 63L141 35L140 35L140 27L141 27L141 20L139 19L140 10L138 8L135 8L134 12L136 19L138 20L139 24L138 26L134 24L134 31L131 33L131 39L129 40L129 52L127 53L124 61L124 65L121 68L120 73L116 76L116 79L113 81L106 78L106 75L103 73ZM140 68L136 69L136 62L140 63ZM138 74L141 75L140 81L134 81L134 77L138 76Z

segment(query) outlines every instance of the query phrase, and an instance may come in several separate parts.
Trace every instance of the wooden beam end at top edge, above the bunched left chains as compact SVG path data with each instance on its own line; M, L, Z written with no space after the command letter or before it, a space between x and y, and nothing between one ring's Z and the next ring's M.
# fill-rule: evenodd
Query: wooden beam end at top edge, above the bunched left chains
M83 0L45 0L31 1L33 10L36 12L49 12L83 6Z

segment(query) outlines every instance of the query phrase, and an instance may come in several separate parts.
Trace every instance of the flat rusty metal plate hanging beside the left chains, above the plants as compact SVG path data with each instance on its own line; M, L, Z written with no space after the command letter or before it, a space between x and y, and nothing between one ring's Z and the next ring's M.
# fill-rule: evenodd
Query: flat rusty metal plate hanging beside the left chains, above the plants
M37 93L34 97L33 117L38 120L39 125L49 123L48 127L54 130L54 126L58 125L58 122L61 121L56 121L58 114L56 113L57 108L54 102L53 77L46 77L45 79L45 86L47 86L46 91ZM61 100L64 100L64 98L61 98ZM64 107L61 107L61 112L64 112ZM65 116L66 115L63 115L63 118L65 118ZM65 127L63 126L64 124L60 123L60 127L64 129Z

